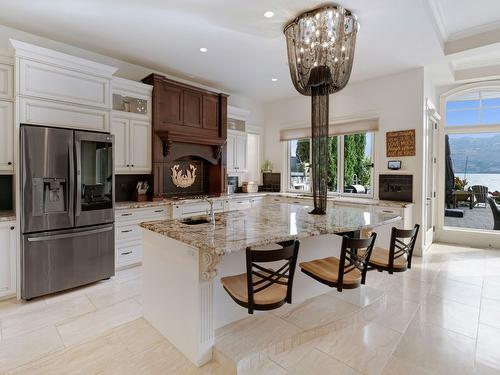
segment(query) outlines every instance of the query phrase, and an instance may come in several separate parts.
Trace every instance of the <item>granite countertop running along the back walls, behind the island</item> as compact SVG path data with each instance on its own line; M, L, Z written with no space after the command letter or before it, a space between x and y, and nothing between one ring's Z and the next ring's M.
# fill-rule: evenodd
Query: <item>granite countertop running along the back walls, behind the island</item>
M210 198L212 200L228 200L228 199L241 199L241 198L262 198L266 196L272 196L272 197L282 197L282 198L293 198L293 199L312 199L311 195L307 194L297 194L297 193L268 193L268 192L259 192L259 193L236 193L236 194L231 194L231 195L221 195L220 197L213 197ZM178 200L178 199L163 199L160 201L154 201L154 202L133 202L133 201L126 201L126 202L116 202L115 203L115 209L116 210L130 210L134 208L147 208L147 207L158 207L158 206L165 206L165 205L181 205L181 204L189 204L189 203L196 203L200 202L200 199L183 199L183 200ZM354 204L366 204L366 205L377 205L377 206L384 206L384 207L396 207L396 208L401 208L401 207L406 207L408 205L411 205L413 203L407 203L407 202L393 202L393 201L381 201L378 199L370 199L370 198L358 198L358 197L328 197L328 201L333 201L333 202L339 202L339 203L354 203Z

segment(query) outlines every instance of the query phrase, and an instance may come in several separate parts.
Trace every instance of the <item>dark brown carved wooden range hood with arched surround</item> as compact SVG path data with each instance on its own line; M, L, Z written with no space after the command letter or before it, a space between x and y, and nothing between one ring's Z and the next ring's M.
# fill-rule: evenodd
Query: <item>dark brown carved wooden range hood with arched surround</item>
M190 156L210 163L209 184L204 193L225 193L228 95L175 82L159 74L151 74L142 81L153 86L154 197L172 194L165 188L165 167Z

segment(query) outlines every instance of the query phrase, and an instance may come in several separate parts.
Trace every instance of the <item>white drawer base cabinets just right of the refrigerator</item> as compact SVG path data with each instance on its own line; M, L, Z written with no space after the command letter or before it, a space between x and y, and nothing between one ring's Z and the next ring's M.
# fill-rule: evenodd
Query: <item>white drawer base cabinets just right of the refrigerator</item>
M115 211L115 268L122 269L142 261L142 228L145 221L166 220L170 207L158 206Z

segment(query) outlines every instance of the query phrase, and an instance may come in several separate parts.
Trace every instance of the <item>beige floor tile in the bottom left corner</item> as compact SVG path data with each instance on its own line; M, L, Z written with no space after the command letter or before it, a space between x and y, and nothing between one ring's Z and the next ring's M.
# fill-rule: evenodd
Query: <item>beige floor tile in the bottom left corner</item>
M3 339L0 344L0 373L42 358L62 347L63 343L54 327Z

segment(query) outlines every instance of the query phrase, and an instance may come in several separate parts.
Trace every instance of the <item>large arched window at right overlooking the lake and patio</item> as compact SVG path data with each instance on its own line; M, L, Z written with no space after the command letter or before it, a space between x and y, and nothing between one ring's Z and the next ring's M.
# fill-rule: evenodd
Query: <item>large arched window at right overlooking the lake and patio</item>
M493 230L500 203L500 90L449 97L445 120L444 225Z

